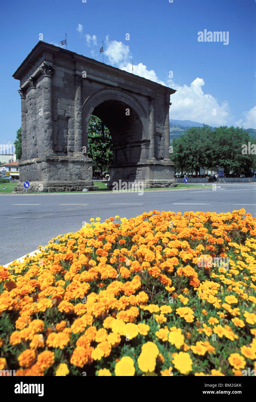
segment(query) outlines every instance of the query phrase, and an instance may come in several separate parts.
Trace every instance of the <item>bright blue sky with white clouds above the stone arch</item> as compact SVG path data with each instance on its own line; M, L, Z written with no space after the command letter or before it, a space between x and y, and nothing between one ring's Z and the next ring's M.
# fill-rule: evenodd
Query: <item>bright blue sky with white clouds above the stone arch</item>
M13 142L21 125L12 74L40 33L55 45L67 33L69 50L99 61L103 40L105 63L131 72L133 60L134 74L177 90L171 119L256 129L255 21L255 0L1 2L0 144ZM199 42L204 29L228 32L228 44Z

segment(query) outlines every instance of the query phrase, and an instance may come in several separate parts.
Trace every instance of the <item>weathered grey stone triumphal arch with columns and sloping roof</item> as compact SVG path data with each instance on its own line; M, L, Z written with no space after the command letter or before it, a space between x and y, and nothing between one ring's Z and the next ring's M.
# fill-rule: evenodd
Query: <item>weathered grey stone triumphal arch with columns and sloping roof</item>
M96 189L88 123L96 115L113 140L113 182L175 186L170 160L172 88L39 41L13 74L20 80L20 183L29 191Z

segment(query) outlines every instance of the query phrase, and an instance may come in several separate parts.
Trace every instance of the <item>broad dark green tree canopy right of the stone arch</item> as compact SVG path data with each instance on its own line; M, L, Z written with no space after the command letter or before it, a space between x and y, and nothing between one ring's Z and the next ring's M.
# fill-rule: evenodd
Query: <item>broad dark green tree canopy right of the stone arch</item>
M240 172L250 176L250 169L256 168L254 154L242 155L242 145L253 143L254 138L240 127L215 127L209 125L191 127L186 134L172 140L175 173L181 171L200 172L200 168L215 170L216 166L224 168L224 173Z

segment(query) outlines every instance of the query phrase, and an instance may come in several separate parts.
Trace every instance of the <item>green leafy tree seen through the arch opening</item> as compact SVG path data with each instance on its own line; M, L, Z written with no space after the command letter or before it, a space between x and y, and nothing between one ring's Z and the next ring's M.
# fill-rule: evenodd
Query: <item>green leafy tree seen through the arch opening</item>
M108 171L113 160L112 140L109 129L102 120L91 115L88 125L88 156L92 158L95 170Z

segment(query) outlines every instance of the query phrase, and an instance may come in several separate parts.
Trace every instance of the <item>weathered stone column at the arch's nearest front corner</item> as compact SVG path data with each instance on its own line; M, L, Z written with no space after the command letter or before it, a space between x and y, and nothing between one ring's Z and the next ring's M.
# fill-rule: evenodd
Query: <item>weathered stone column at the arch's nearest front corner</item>
M53 151L53 113L52 113L52 76L55 66L43 64L40 68L43 74L43 146L46 155L55 155Z

